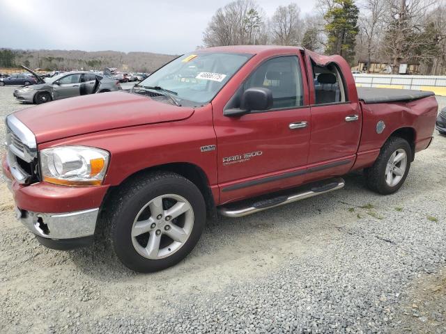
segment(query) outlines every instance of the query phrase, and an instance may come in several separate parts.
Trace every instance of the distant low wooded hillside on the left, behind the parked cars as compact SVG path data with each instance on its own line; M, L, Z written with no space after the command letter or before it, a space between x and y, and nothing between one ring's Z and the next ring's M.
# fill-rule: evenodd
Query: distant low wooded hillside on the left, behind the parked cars
M0 67L25 65L42 70L102 70L153 72L175 56L149 52L0 49Z

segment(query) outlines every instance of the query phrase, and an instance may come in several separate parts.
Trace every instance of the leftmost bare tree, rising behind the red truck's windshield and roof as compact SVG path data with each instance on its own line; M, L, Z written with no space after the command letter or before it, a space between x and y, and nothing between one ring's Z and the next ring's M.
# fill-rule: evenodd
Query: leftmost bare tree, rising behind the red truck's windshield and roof
M258 44L263 10L254 0L236 0L218 8L203 33L207 47Z

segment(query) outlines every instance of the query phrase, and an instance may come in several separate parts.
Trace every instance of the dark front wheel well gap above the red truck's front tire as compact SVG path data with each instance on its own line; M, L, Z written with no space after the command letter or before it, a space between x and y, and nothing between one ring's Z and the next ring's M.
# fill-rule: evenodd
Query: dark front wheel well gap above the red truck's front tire
M197 186L197 188L203 194L203 198L206 202L206 211L209 218L215 218L217 216L217 210L215 209L215 201L213 198L212 191L210 191L208 177L206 173L197 165L190 164L187 162L179 162L173 164L164 164L160 166L153 166L146 168L144 170L139 170L138 172L127 177L121 184L118 186L112 187L112 191L114 189L119 189L122 184L129 182L137 177L144 177L144 174L153 173L157 171L165 171L179 174L185 177L187 180L190 180L193 184Z

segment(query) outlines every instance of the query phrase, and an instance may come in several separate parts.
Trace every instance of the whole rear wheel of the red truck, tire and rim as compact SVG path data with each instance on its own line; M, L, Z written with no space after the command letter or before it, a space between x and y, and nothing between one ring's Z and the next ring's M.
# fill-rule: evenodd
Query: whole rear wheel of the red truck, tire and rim
M403 185L410 169L412 149L403 138L389 138L373 166L364 169L367 186L376 193L388 195Z

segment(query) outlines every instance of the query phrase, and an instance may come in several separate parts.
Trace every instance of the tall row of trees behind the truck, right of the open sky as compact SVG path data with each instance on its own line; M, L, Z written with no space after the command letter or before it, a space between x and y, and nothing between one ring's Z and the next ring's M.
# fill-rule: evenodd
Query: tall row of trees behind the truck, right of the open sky
M203 33L203 44L301 45L323 54L385 63L420 64L421 74L446 74L446 5L438 0L317 0L302 15L296 3L268 17L255 0L219 8ZM370 68L370 66L368 66Z

